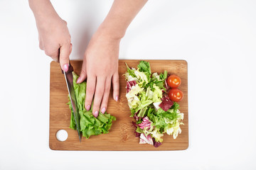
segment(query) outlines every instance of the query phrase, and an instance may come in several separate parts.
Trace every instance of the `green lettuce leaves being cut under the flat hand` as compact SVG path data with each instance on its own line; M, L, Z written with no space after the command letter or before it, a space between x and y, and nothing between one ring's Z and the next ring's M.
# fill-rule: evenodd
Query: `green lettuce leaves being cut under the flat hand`
M73 86L75 89L78 113L80 115L80 131L82 132L82 136L88 139L91 135L108 133L112 125L112 120L116 120L116 118L108 113L99 113L98 117L95 118L92 115L92 107L90 111L87 111L85 109L86 82L84 81L81 84L77 84L77 79L78 75L73 72ZM70 128L76 130L75 118L70 101L68 105L71 110Z

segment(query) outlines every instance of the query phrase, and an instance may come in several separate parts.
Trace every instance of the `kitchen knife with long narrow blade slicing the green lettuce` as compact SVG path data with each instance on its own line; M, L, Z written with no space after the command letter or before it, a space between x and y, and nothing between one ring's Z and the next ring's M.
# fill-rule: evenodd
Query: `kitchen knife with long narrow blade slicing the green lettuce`
M74 118L75 118L75 124L76 124L76 128L78 130L78 137L79 137L79 141L81 142L81 134L80 134L80 115L78 114L78 109L77 109L77 101L75 98L75 89L73 86L73 72L74 69L72 67L72 65L69 63L69 67L68 67L68 71L67 72L63 72L64 77L65 77L65 81L68 87L68 94L70 96L70 101L71 101L71 105L72 105L72 110L73 110L73 114L74 114Z

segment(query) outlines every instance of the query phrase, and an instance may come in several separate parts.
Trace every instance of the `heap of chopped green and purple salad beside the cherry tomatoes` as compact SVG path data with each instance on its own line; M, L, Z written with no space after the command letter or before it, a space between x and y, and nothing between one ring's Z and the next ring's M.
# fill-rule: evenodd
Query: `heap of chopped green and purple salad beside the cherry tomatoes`
M183 113L178 110L178 103L169 98L167 74L166 71L151 74L150 64L145 61L139 62L137 69L127 65L124 74L127 80L126 97L140 144L159 147L164 133L174 139L181 133Z

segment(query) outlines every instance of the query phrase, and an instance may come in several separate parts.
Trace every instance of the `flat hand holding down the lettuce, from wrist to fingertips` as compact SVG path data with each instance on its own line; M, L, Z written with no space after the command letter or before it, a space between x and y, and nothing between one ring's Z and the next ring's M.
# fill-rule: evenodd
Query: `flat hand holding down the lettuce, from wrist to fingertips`
M113 86L113 98L118 101L119 96L119 38L97 30L87 46L82 63L82 71L78 78L81 83L87 78L85 108L90 110L93 101L92 114L97 118L99 111L105 113Z

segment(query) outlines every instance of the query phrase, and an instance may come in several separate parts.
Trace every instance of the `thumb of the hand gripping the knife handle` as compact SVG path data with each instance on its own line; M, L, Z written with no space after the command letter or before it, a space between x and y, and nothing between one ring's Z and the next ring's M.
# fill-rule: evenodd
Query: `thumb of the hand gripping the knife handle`
M71 50L72 47L70 47L70 44L65 44L60 47L60 67L64 72L68 71L69 56Z

